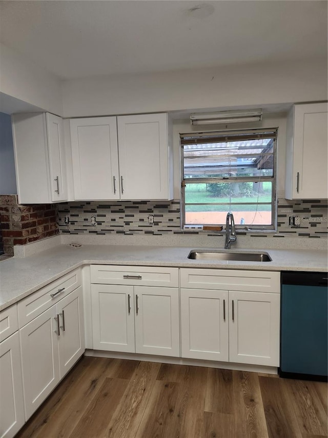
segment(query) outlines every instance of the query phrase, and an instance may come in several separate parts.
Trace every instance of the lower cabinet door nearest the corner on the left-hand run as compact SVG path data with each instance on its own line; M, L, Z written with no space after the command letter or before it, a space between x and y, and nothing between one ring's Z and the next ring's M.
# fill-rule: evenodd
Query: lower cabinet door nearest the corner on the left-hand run
M58 302L57 314L60 321L59 371L60 378L63 378L85 350L81 286Z

